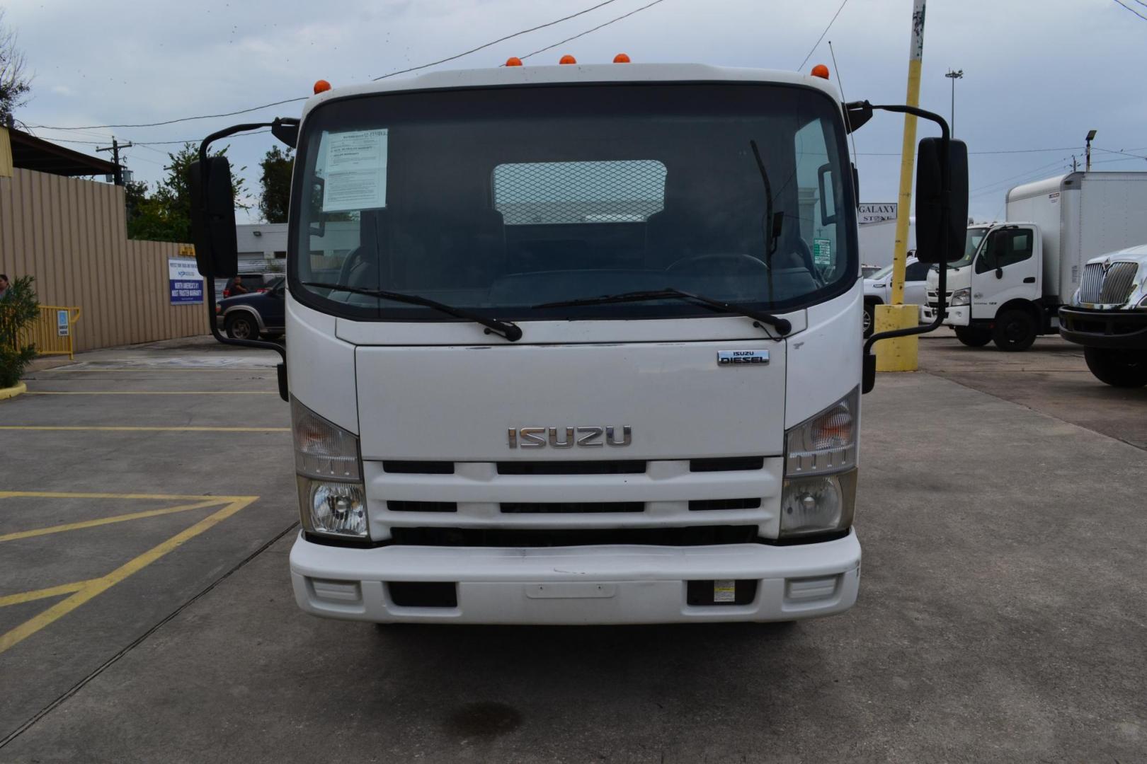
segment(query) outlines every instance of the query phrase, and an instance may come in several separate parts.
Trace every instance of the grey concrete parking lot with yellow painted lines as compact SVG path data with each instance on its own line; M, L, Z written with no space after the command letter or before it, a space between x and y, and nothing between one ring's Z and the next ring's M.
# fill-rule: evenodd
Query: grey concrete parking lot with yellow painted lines
M274 362L103 351L0 402L0 762L1147 761L1147 391L1058 339L880 376L860 601L793 627L302 614Z

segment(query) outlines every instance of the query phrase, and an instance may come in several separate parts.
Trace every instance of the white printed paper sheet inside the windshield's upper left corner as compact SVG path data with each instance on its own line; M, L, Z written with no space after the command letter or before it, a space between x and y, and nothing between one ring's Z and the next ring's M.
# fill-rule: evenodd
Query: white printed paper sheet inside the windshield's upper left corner
M383 128L323 134L323 212L387 206L387 133Z

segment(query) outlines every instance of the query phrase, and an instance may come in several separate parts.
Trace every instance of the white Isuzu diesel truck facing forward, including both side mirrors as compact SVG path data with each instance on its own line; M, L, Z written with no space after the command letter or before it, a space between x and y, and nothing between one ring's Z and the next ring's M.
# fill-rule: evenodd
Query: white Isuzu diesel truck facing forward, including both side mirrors
M435 623L850 608L875 367L845 135L874 108L942 126L916 235L959 257L963 144L820 77L510 65L326 90L271 123L297 147L280 392L298 605ZM208 147L259 126L209 136L192 170L204 274L235 267Z

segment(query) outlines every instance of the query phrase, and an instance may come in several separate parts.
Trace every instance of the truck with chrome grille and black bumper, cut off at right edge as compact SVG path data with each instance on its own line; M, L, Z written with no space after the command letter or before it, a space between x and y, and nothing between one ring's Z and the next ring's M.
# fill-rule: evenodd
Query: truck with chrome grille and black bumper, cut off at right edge
M1114 387L1147 385L1147 244L1087 261L1060 336L1083 345L1087 368Z

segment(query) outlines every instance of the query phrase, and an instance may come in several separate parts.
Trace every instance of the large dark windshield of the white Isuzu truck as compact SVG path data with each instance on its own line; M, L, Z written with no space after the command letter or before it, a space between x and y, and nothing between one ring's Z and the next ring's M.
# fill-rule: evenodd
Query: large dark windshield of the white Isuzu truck
M858 271L840 127L827 95L782 85L335 100L299 142L291 292L362 321L454 320L370 290L506 321L712 315L677 299L548 305L642 290L766 312L821 301Z

